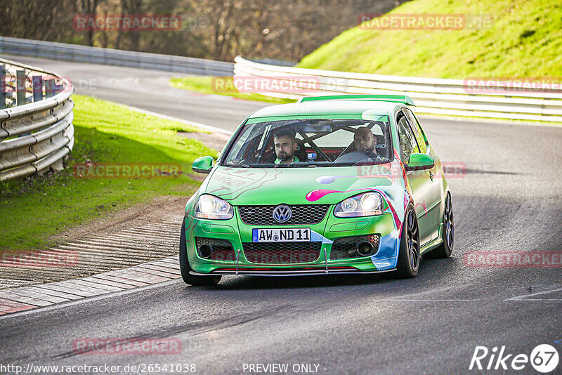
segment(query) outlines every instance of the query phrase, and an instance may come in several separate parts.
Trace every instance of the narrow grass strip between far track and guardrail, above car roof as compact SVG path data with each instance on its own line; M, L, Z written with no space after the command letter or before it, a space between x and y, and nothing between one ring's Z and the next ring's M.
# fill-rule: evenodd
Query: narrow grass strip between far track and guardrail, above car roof
M218 86L217 86L218 85ZM295 103L296 100L275 98L257 93L240 93L233 84L233 77L179 77L170 79L170 86L200 93L232 96L244 100L285 104ZM217 89L220 87L221 89ZM224 88L224 89L223 89Z

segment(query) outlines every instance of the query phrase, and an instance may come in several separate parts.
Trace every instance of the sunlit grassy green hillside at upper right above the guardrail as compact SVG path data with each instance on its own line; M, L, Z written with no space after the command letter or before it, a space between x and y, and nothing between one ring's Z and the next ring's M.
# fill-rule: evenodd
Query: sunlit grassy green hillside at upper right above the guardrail
M376 29L367 21L303 58L299 67L412 77L560 77L562 3L556 0L414 0L387 13L490 16L481 28ZM425 17L425 16L422 16ZM368 23L370 22L370 23Z

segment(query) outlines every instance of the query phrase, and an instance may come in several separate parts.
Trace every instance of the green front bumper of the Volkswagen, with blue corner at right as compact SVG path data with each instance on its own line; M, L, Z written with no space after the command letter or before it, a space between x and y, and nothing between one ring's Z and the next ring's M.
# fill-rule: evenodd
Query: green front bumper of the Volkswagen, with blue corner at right
M245 225L238 210L226 221L202 220L186 216L185 238L192 275L301 276L330 274L370 274L396 269L399 249L398 228L391 213L365 218L336 218L330 208L324 220L313 225ZM244 243L252 242L254 228L311 228L322 237L320 254L304 263L253 263L244 254ZM334 240L376 234L379 247L372 256L331 259ZM229 260L202 258L197 252L196 237L226 240L235 255ZM272 247L283 243L272 243Z

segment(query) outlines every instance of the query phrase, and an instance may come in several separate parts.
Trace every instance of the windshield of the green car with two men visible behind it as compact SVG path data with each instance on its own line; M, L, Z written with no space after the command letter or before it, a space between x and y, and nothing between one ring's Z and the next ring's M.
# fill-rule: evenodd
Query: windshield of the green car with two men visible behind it
M388 114L365 119L285 119L246 124L225 166L353 166L389 162Z

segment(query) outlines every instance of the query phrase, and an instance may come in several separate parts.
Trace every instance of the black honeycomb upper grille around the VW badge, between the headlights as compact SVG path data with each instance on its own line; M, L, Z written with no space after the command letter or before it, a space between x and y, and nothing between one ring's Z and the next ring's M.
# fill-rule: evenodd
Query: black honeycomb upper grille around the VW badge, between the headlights
M329 204L295 204L291 207L292 217L285 223L273 220L273 210L277 205L270 206L239 206L240 218L246 225L301 225L318 224L324 220Z

